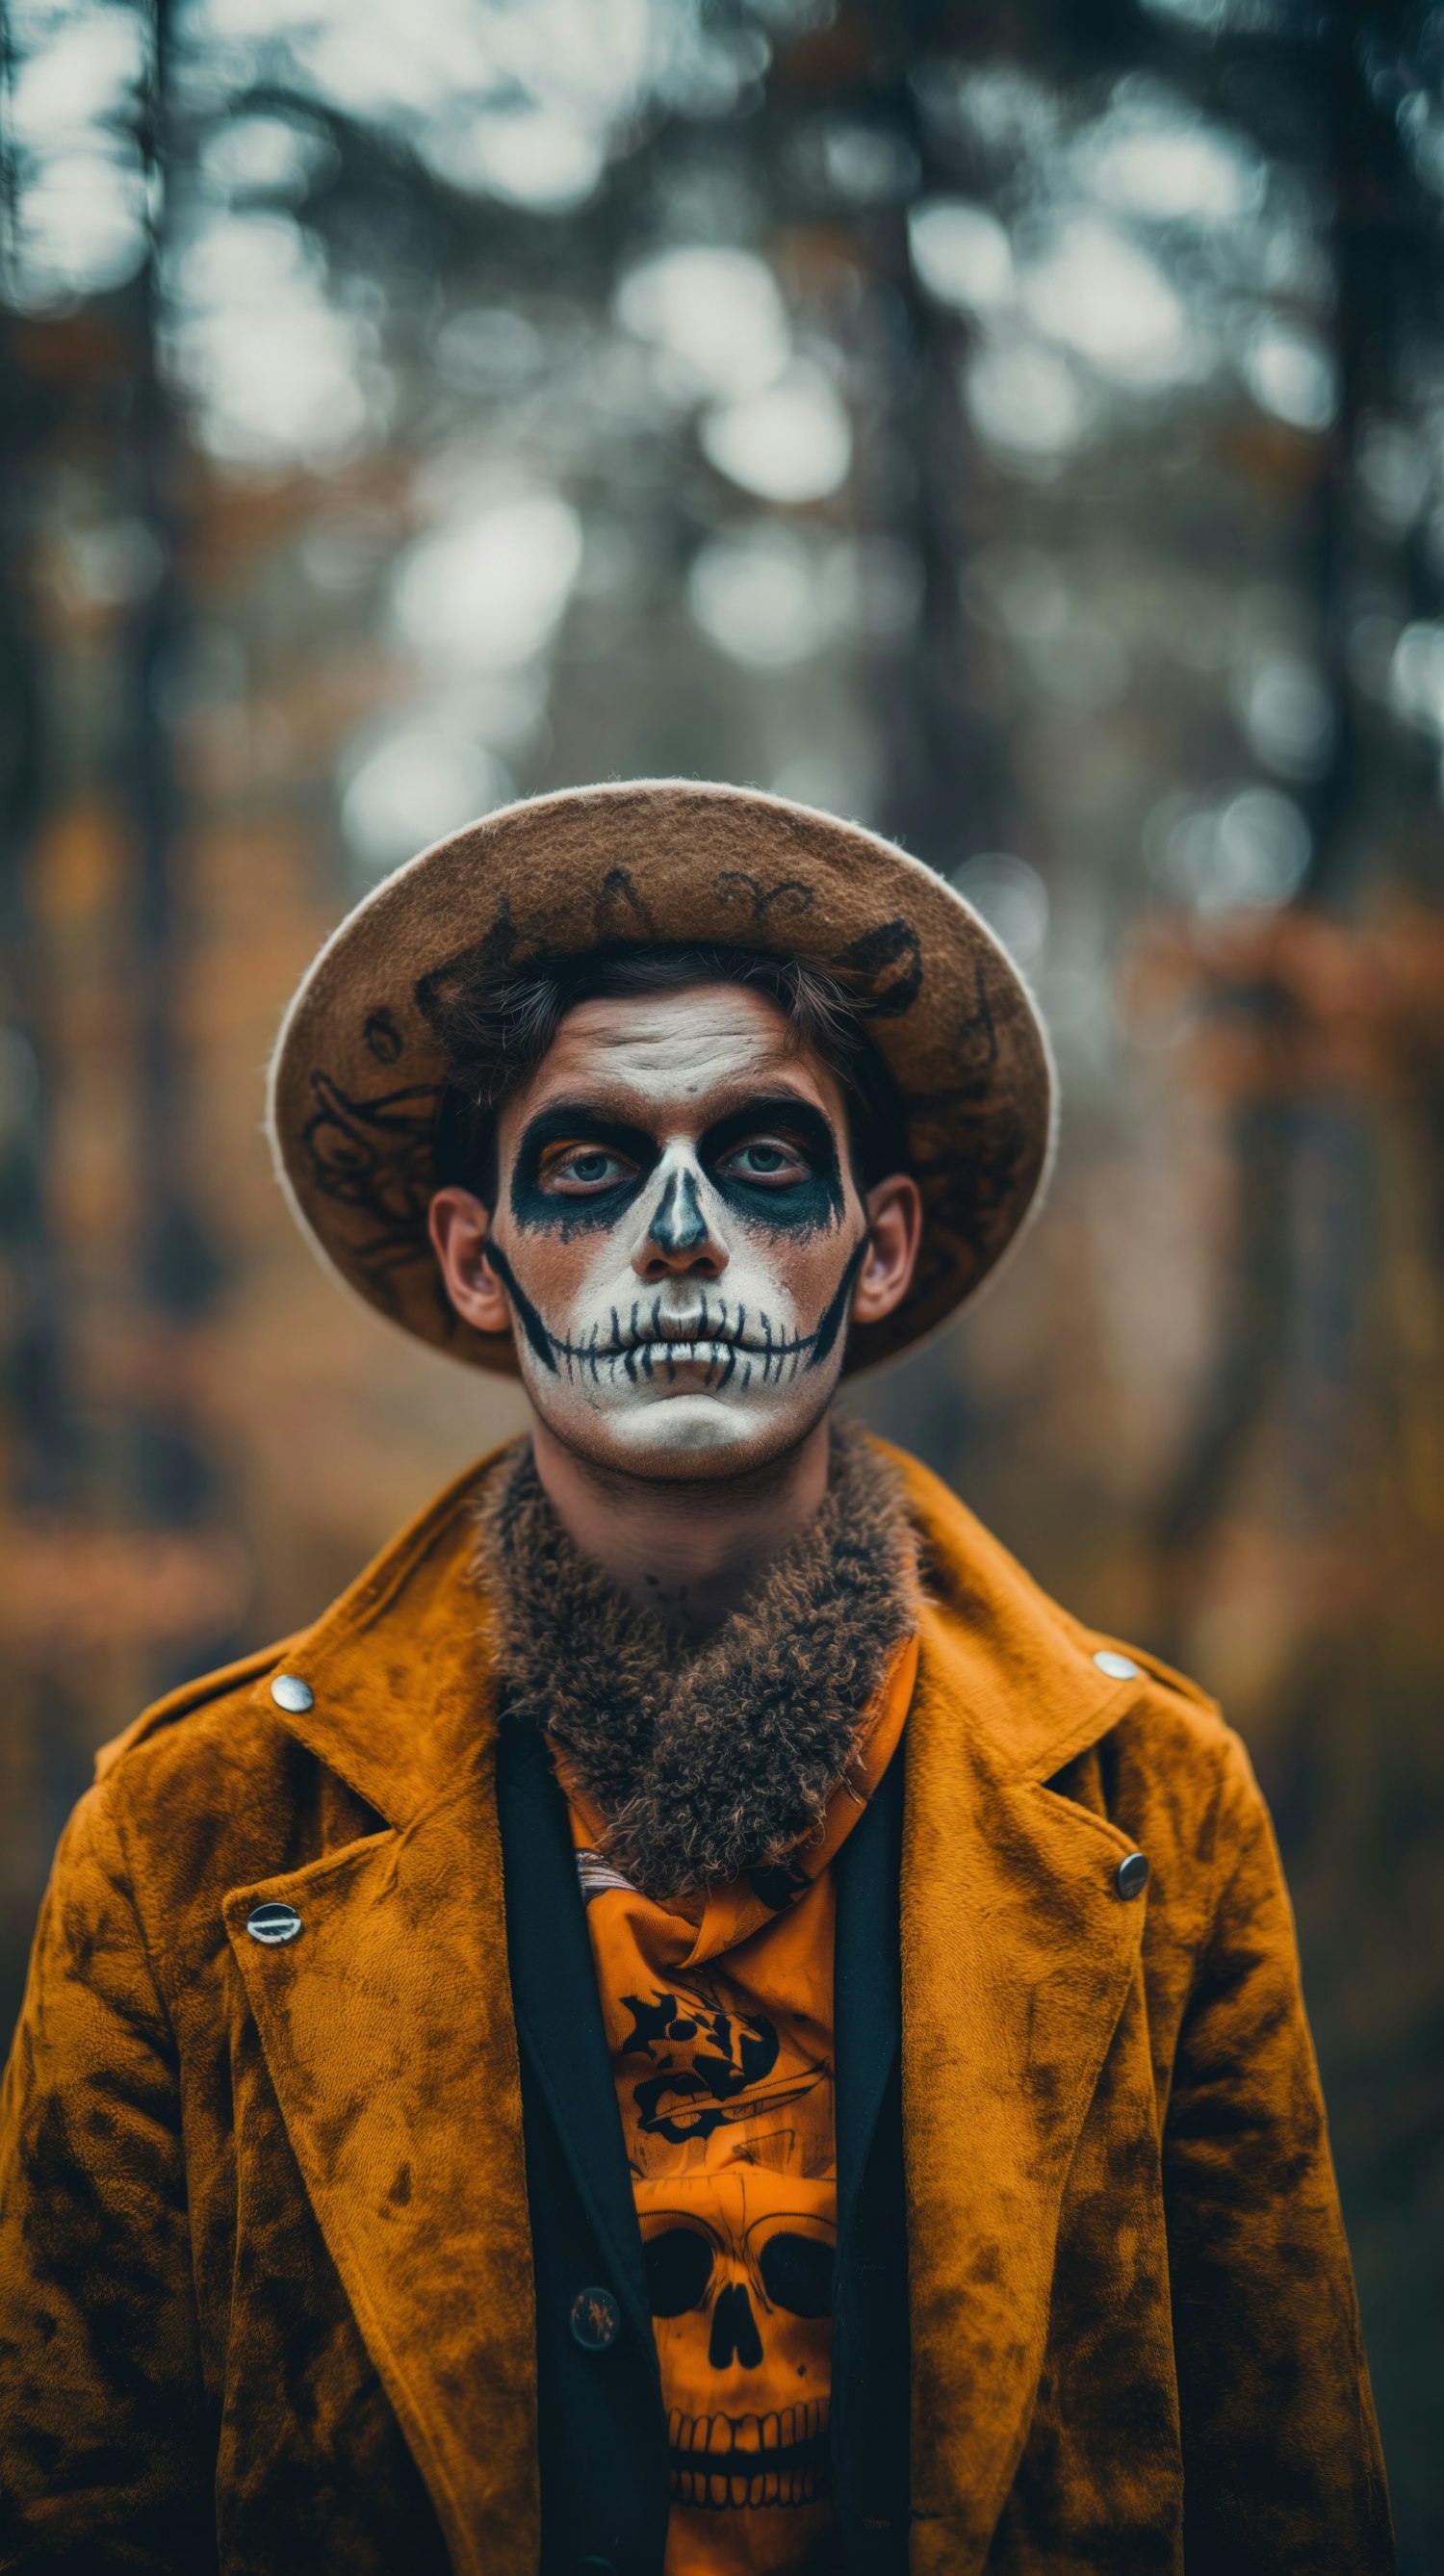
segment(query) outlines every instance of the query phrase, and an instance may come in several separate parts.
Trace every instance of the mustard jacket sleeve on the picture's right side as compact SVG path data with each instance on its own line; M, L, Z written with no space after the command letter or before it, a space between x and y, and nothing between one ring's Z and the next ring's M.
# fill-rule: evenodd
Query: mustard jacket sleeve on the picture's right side
M1163 2192L1187 2576L1382 2576L1390 2509L1292 1909L1230 1736Z

